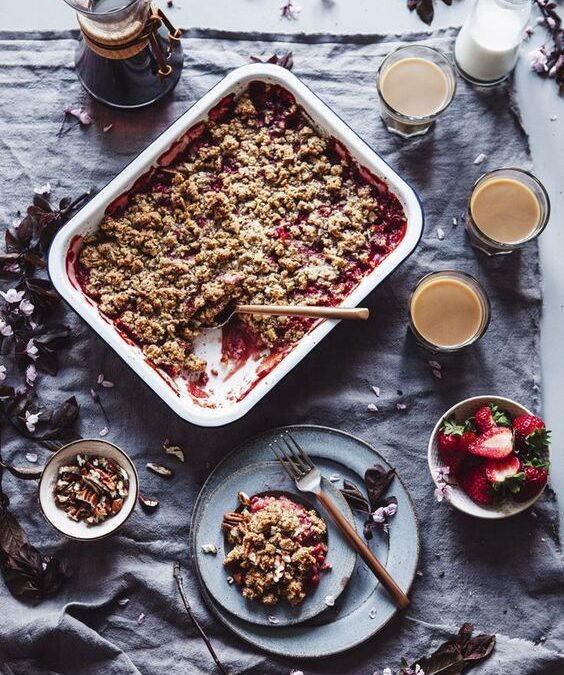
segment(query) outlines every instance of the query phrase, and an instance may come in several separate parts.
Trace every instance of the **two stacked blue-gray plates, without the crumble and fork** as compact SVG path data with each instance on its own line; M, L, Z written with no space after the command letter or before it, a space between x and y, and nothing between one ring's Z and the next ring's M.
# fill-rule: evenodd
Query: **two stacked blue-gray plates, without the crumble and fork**
M363 490L365 470L389 463L367 443L325 427L287 427L320 469L323 488L361 531L362 514L353 514L339 488L343 480ZM314 495L299 492L273 457L268 444L283 431L266 432L232 452L206 481L194 507L191 554L206 603L217 618L239 637L265 651L301 658L337 654L377 633L395 615L390 596L349 547ZM280 601L274 607L245 600L236 584L228 583L223 560L230 546L221 531L223 515L235 511L240 491L253 496L284 494L315 509L327 523L327 562L315 591L297 607ZM408 591L417 569L419 534L413 503L401 479L390 488L398 511L389 536L376 532L370 542L399 586ZM209 552L209 545L217 554Z

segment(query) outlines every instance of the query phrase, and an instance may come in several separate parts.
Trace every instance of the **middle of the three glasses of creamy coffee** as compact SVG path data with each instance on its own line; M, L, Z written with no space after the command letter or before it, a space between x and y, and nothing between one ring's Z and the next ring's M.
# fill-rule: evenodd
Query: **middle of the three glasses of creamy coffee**
M466 230L472 245L488 255L511 253L546 227L550 200L528 171L495 169L481 176L468 200Z

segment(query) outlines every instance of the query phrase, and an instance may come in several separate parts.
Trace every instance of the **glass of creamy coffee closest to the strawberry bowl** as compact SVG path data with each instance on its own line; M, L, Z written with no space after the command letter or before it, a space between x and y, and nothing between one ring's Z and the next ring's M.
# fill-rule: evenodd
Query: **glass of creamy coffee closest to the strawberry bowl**
M423 277L409 301L411 330L423 347L453 352L479 340L490 321L486 292L465 272L444 270Z

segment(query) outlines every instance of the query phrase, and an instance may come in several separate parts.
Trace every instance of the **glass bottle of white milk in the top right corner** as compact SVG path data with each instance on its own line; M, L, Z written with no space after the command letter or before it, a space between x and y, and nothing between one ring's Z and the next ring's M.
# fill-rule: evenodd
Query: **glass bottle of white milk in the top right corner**
M530 0L477 0L454 45L460 74L482 86L505 80L517 62L530 13Z

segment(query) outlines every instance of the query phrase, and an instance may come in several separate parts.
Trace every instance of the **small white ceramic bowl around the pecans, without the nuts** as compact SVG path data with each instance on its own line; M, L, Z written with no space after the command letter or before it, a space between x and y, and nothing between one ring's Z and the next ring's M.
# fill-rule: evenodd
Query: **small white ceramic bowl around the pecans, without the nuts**
M98 525L75 522L55 503L54 490L59 467L68 464L79 453L108 457L123 467L129 476L129 493L120 512ZM139 478L133 462L117 445L99 439L83 439L65 445L47 462L39 480L39 505L46 520L61 534L81 541L103 539L115 532L132 514L138 496Z

